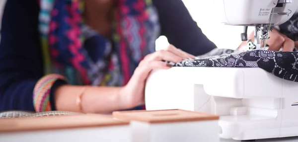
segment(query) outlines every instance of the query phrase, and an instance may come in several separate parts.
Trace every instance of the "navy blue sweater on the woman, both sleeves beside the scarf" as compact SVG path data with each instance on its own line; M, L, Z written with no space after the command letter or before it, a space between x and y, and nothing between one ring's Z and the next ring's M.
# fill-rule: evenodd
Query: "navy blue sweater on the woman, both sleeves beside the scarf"
M43 77L38 32L38 0L7 0L0 42L0 111L33 108L33 88ZM216 48L197 26L182 0L153 0L161 33L168 42L193 55ZM53 90L62 83L55 83ZM51 103L55 110L51 96Z

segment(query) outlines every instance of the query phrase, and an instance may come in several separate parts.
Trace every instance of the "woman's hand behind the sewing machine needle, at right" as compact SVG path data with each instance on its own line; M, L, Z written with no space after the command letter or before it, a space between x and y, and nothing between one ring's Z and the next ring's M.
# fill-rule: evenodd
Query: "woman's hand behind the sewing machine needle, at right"
M275 28L269 32L269 37L270 38L266 42L266 44L269 45L268 50L279 51L283 48L284 52L292 52L295 48L295 42ZM254 42L254 31L250 34L248 39L251 39ZM247 42L242 42L241 46L246 46L246 43ZM261 40L259 43L261 43Z

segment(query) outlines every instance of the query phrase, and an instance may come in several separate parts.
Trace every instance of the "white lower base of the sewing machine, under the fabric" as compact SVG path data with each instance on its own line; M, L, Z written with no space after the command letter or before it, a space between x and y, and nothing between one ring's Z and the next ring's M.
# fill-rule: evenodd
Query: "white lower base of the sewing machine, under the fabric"
M217 114L222 138L251 140L298 136L297 91L297 82L259 68L173 67L151 72L145 101L149 111Z

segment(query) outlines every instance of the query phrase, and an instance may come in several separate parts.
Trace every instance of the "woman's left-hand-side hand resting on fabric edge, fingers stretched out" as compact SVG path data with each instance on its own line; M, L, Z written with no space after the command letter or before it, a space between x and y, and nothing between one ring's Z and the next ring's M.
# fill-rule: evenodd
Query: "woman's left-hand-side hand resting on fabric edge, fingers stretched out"
M170 69L171 66L164 61L173 63L181 62L183 59L194 59L190 55L173 45L169 45L165 50L156 51L147 55L139 64L130 81L121 90L122 102L126 103L128 108L133 108L145 103L144 90L146 80L150 71L153 69Z

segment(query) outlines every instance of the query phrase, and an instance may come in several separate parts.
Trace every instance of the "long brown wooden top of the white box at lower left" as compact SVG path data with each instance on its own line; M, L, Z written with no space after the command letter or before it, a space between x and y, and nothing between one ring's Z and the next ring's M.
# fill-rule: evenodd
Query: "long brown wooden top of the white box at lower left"
M10 118L0 119L0 133L119 125L129 125L129 122L117 120L112 116L92 114L57 117Z

